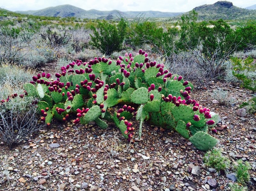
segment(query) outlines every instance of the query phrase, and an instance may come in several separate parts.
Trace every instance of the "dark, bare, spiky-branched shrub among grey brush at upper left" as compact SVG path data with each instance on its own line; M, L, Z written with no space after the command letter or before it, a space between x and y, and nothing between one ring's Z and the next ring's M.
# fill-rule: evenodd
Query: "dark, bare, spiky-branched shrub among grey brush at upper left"
M54 50L60 49L62 46L68 44L70 37L66 34L66 31L63 34L57 34L57 32L53 32L51 27L48 26L46 31L40 33L41 42L44 43L45 46L49 46Z

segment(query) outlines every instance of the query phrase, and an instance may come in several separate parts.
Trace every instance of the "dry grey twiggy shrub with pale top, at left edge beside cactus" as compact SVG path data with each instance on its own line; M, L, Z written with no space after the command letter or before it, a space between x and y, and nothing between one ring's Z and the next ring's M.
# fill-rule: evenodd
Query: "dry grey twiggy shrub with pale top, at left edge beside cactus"
M1 104L0 134L2 141L7 145L21 143L30 134L44 126L38 124L36 105L31 104L34 100L33 97L18 96Z

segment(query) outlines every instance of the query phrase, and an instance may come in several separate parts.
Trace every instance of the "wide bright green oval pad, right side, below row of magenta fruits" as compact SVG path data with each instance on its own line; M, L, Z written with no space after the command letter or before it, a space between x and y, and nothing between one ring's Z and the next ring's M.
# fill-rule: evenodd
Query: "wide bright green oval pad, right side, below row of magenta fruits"
M175 106L172 108L171 112L175 121L191 121L194 117L194 111L191 107L186 105L180 105L179 107Z

